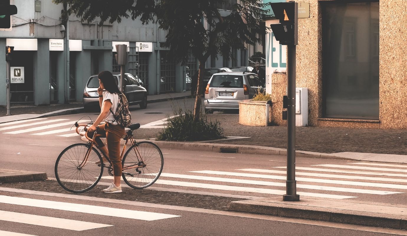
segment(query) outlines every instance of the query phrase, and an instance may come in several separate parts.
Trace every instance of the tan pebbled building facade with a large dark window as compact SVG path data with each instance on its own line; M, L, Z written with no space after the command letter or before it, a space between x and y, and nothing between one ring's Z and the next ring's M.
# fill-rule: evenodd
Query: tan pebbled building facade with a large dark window
M401 0L300 3L308 8L309 17L298 19L295 76L296 87L308 88L308 125L407 128L404 106L407 3ZM273 20L266 21L271 23ZM277 46L272 46L271 52L273 47ZM276 83L272 93L284 92L286 87L279 85L281 75L269 76Z

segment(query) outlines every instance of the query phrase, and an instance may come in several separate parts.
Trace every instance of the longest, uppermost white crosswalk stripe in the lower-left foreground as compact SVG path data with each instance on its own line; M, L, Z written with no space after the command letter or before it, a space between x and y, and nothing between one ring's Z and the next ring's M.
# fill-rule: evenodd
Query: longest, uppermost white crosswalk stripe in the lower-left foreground
M25 206L33 206L33 207L39 207L39 208L65 210L65 211L71 211L71 212L82 212L82 213L89 213L89 214L96 214L96 215L103 215L103 216L123 217L123 218L128 218L128 219L138 219L138 220L144 220L144 221L154 221L154 220L160 220L160 219L179 217L177 215L162 214L162 213L155 213L155 212L142 212L142 211L136 211L136 210L126 210L126 209L108 208L108 207L77 204L77 203L66 203L66 202L58 202L58 201L29 199L29 198L23 198L23 197L10 197L10 196L4 196L4 195L0 195L0 202L14 204L14 205L25 205Z

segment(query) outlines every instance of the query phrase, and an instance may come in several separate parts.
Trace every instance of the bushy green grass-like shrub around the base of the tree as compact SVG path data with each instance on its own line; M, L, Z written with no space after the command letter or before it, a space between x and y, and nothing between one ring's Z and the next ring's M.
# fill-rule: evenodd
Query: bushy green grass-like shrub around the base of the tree
M201 115L198 122L194 122L192 111L174 110L175 116L167 116L168 124L162 132L158 132L155 140L165 141L203 141L225 138L219 121L208 122L205 115Z

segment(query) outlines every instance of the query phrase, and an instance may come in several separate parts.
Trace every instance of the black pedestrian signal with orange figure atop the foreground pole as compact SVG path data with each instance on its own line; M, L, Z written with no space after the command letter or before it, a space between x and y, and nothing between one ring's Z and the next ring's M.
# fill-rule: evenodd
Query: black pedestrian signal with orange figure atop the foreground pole
M279 24L270 25L274 37L282 45L298 45L298 3L276 2L270 3L270 6L280 21Z

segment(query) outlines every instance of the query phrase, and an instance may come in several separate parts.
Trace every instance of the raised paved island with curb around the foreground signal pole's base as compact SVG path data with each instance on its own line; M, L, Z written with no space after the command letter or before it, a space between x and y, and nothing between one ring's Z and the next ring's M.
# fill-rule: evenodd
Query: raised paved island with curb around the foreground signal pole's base
M233 201L230 203L228 211L407 229L407 205L310 197L289 202L282 201L282 197L273 197Z

